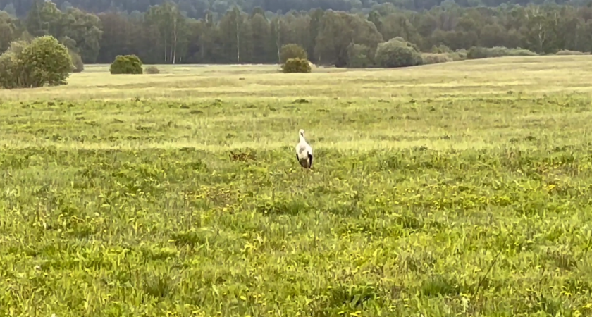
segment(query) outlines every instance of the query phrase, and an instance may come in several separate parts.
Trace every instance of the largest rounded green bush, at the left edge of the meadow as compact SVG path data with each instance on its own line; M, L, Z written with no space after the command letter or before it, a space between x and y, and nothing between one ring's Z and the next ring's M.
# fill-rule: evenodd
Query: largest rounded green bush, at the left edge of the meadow
M11 42L0 56L0 86L5 89L66 85L75 68L66 46L46 35Z

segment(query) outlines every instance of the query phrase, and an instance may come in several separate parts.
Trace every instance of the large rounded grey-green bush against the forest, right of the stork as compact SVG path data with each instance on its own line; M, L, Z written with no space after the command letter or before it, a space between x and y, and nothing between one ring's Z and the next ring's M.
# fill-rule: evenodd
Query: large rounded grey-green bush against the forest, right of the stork
M383 68L417 66L424 62L417 46L400 37L378 44L374 61Z

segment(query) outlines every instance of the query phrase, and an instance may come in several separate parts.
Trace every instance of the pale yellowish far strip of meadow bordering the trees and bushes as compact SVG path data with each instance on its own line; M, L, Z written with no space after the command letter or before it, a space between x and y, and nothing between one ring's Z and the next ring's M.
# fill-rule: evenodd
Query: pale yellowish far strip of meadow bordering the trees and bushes
M86 66L69 85L35 92L0 91L2 100L225 98L406 99L473 98L510 93L590 92L592 56L490 58L399 70L313 68L279 73L279 66L158 66L155 75L109 75L108 65ZM559 76L559 77L557 77Z

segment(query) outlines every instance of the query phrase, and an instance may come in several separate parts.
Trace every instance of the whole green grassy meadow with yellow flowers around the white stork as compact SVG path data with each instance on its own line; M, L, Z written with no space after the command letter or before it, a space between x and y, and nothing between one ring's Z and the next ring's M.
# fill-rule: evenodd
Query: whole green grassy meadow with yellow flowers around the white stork
M592 316L591 56L159 68L0 90L0 316Z

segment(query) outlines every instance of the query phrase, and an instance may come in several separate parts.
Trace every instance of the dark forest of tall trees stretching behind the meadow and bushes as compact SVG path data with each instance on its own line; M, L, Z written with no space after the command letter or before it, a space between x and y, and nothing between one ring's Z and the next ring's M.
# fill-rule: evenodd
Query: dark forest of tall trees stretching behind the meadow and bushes
M538 2L538 4L537 4ZM543 4L544 2L544 4ZM590 1L0 0L0 51L53 35L85 63L278 63L283 44L347 66L348 48L402 37L421 51L473 46L592 51Z

